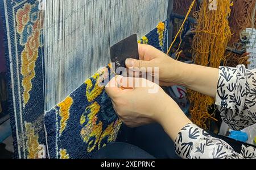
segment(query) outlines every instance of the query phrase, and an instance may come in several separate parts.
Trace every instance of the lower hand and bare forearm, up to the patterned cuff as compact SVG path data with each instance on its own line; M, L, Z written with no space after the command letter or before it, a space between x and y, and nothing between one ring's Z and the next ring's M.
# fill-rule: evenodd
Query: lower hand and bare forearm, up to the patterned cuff
M143 78L117 76L106 85L115 112L129 127L158 122L175 140L189 119L160 86Z

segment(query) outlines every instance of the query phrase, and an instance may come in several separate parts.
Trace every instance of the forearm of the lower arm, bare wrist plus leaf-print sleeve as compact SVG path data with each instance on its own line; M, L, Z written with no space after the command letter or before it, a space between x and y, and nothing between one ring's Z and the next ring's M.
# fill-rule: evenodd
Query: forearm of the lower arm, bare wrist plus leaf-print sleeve
M179 106L167 106L159 123L174 141L181 158L243 158L228 143L194 125Z

